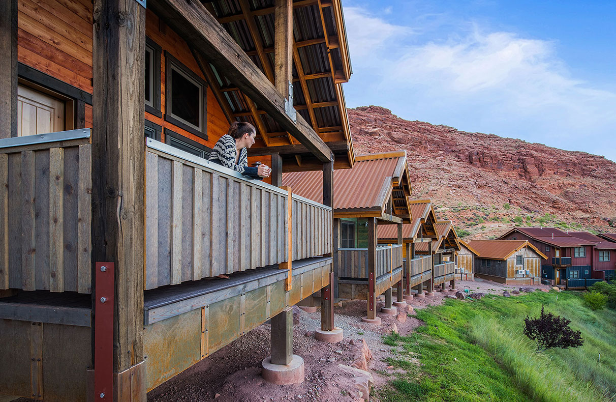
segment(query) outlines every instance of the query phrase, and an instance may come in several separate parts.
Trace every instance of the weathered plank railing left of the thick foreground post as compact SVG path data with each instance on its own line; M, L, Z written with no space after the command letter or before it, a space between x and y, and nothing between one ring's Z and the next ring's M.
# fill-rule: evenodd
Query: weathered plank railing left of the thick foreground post
M0 289L91 293L90 133L0 140Z

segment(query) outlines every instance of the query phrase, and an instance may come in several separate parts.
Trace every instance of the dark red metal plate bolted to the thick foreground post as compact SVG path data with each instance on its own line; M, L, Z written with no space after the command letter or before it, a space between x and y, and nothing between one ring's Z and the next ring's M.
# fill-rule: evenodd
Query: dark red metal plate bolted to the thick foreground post
M96 263L94 400L113 402L113 263Z

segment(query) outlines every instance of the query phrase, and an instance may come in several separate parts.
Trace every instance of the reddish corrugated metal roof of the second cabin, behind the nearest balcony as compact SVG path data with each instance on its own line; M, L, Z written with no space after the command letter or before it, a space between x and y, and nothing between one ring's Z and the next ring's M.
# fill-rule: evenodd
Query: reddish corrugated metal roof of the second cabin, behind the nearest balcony
M334 170L334 210L382 208L389 199L392 187L391 178L400 158L406 159L405 156L368 160L362 158L355 162L352 169ZM282 183L283 186L291 187L294 194L316 202L323 202L323 173L321 171L283 173ZM384 192L384 189L387 191Z

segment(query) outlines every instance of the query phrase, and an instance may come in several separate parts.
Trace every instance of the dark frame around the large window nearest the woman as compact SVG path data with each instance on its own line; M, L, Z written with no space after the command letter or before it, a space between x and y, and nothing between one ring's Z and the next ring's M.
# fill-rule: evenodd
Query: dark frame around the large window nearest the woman
M169 121L174 126L185 129L188 133L195 134L195 136L203 139L208 139L208 83L203 78L198 76L195 72L190 70L186 65L177 60L168 51L164 52L165 59L165 77L164 77L164 89L165 89L165 105L164 105L164 120ZM181 117L174 115L171 110L171 91L172 80L171 73L173 70L180 73L187 78L188 81L193 81L196 86L200 86L201 91L201 108L200 108L200 121L201 127L197 128L188 121L185 121Z

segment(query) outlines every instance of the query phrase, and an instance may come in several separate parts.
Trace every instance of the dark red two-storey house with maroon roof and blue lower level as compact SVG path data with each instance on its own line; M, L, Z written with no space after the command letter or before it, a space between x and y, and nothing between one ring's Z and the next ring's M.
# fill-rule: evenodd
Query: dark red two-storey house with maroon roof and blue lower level
M591 235L593 236L593 235ZM556 228L514 228L499 239L528 240L548 258L542 262L541 277L554 285L594 283L593 247L598 241L573 236ZM613 269L613 268L612 268Z

